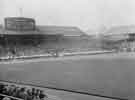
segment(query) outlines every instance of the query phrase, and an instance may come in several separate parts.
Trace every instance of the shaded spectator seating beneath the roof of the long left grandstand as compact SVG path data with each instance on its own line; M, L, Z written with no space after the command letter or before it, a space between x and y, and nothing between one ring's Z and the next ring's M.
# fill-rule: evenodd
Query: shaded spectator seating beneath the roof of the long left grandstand
M36 42L36 41L35 41ZM8 40L0 43L0 60L23 57L56 57L61 53L87 52L99 50L99 44L94 40L81 38L63 38L60 40L44 40L44 42L20 43Z

